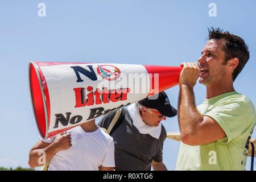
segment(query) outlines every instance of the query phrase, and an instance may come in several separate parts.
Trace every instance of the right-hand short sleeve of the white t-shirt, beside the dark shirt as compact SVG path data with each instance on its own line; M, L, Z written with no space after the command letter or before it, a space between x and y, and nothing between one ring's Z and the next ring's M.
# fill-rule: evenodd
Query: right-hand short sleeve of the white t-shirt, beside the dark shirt
M105 157L102 161L101 166L104 167L115 167L115 147L114 147L114 140L111 139L109 143L108 150L106 151Z

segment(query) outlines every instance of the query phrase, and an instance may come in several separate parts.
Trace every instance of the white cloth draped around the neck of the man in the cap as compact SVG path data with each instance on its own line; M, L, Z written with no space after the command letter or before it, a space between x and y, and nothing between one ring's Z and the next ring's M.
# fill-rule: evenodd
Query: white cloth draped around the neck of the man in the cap
M150 126L144 123L141 118L141 114L139 113L138 107L136 106L136 103L128 106L127 110L131 119L133 119L133 125L137 127L137 129L139 130L139 133L149 134L152 137L159 139L161 130L162 130L161 123L158 126Z

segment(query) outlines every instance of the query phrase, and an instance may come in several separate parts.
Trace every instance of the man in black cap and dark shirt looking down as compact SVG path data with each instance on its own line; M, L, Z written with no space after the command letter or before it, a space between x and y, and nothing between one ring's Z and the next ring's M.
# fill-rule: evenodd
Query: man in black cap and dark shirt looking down
M115 170L167 170L163 163L163 142L166 130L160 123L174 117L177 110L171 106L166 93L151 96L122 108L110 135L115 145ZM117 111L105 115L98 126L108 129Z

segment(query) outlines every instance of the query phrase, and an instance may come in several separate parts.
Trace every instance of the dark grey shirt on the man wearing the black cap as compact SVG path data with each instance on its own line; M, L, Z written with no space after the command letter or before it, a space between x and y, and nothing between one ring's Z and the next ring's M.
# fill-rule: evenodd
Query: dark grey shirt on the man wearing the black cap
M108 129L116 112L105 115L98 126ZM110 133L115 145L115 170L149 171L152 160L162 162L163 142L166 139L164 126L159 139L156 139L149 134L139 133L127 108L122 109L119 119L112 129L113 133Z

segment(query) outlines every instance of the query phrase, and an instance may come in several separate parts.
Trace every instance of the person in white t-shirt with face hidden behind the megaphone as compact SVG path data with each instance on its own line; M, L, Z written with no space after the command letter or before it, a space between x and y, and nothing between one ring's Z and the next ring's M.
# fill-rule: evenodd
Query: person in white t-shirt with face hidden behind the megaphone
M113 138L102 131L95 120L57 135L54 142L53 137L40 138L30 151L31 168L44 165L40 162L43 152L45 162L51 160L48 171L112 171L115 167Z

